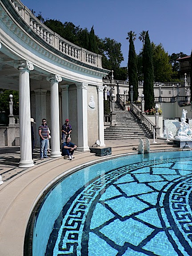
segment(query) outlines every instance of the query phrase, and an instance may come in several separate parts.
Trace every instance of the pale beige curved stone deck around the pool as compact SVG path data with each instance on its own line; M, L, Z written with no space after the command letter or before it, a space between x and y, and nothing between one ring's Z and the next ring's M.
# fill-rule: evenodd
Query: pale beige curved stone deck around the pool
M178 150L164 140L151 143L152 151ZM106 146L112 147L111 156L95 156L90 152L76 151L72 161L62 156L39 159L35 149L35 166L18 168L19 147L0 148L0 175L4 183L0 185L0 255L21 256L24 250L24 236L29 216L44 191L60 177L83 167L87 163L102 161L122 154L137 154L139 140L107 140Z

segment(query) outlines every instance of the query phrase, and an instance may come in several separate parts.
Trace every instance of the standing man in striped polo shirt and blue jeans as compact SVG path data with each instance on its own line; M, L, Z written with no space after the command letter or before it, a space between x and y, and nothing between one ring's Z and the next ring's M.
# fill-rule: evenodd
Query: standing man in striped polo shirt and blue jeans
M47 155L48 149L48 125L46 123L46 119L42 120L42 124L39 127L39 136L40 136L40 159L49 158Z

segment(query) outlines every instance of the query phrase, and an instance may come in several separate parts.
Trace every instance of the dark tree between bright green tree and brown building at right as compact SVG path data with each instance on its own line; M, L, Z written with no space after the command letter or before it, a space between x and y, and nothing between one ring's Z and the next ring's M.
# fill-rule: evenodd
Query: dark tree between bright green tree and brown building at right
M187 56L187 54L184 54L183 52L172 53L172 55L169 55L169 62L172 65L172 82L177 82L180 80L179 61L177 59L185 56Z

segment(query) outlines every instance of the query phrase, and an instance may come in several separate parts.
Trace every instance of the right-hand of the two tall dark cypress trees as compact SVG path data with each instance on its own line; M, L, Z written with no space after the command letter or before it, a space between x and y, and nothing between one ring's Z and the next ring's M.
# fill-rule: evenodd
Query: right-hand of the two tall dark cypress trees
M145 36L144 52L143 52L143 93L144 93L144 110L154 107L154 71L152 63L152 46L149 39L148 31Z

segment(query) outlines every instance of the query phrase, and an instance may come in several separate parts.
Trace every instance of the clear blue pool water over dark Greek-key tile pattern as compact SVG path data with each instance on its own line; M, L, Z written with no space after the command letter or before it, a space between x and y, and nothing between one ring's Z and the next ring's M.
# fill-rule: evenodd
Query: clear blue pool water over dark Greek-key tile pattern
M192 152L106 160L44 197L33 256L192 256Z

